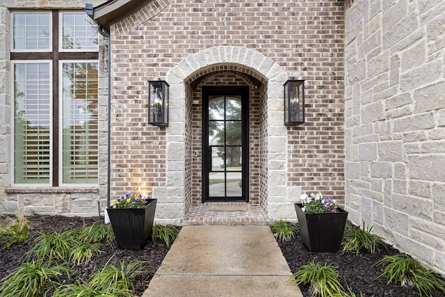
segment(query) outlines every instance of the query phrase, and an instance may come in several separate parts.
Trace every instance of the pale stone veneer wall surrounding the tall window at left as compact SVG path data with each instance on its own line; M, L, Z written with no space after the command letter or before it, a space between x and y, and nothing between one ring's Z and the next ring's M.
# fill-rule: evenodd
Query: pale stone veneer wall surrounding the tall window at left
M102 0L0 1L0 214L65 214L67 216L97 216L98 204L104 211L107 203L107 40L99 35L99 184L92 186L11 186L10 151L13 133L11 131L12 109L10 73L10 12L20 10L79 10L84 11L85 3L99 5Z

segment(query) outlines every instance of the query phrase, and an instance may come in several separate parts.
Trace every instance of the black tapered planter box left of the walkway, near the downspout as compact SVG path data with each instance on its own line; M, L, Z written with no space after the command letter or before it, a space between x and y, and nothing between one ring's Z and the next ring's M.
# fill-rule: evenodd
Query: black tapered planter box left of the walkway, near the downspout
M108 207L108 217L118 241L124 249L140 250L152 235L156 199L149 199L144 208L122 209Z

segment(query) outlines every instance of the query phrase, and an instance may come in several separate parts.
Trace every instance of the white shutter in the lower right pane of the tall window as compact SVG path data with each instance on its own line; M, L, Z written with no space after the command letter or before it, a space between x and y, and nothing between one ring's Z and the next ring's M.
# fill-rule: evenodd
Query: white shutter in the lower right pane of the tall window
M97 182L97 63L62 63L63 184Z

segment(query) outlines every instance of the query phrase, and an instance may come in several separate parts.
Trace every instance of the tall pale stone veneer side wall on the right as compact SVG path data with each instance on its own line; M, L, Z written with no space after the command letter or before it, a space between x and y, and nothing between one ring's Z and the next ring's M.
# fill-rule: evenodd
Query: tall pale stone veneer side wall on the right
M445 1L346 12L346 207L445 273Z

